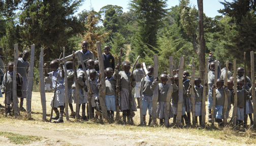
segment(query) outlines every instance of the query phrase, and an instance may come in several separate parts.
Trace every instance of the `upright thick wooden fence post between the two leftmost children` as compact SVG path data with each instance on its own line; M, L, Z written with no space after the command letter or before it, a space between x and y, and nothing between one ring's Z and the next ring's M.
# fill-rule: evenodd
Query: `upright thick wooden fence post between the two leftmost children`
M18 64L18 44L14 45L14 66L13 66L13 108L14 108L14 116L17 117L20 115L19 105L18 105L18 97L17 97L17 64Z

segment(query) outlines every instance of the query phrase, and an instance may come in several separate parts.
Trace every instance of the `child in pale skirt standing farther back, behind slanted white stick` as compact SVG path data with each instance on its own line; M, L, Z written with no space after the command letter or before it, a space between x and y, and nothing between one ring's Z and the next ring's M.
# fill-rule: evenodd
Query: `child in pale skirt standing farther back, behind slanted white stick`
M137 98L138 106L140 108L140 86L141 86L141 79L144 77L144 72L140 69L141 64L136 63L136 70L133 71L134 77L136 79L136 86L135 86L135 94L134 97Z

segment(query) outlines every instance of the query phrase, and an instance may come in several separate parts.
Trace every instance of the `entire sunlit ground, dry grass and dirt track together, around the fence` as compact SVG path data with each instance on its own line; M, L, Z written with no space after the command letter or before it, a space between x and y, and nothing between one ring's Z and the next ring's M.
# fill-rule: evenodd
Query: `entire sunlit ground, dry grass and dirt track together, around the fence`
M50 115L52 93L46 93L47 119ZM3 103L4 98L0 98ZM25 100L24 100L25 101ZM75 104L73 104L75 107ZM104 123L103 121L65 121L54 124L42 121L40 93L33 92L31 119L0 115L0 145L255 145L252 130L200 126L138 126L139 109L135 125ZM80 113L81 114L81 113ZM148 117L146 118L148 121ZM171 121L172 122L172 119ZM246 132L244 135L238 131ZM11 133L10 133L11 132ZM17 139L17 140L13 140Z

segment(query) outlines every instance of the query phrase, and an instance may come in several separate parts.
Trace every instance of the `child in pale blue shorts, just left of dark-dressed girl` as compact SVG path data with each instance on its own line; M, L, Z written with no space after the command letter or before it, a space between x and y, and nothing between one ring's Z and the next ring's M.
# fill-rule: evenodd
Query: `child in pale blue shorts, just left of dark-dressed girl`
M107 107L108 118L112 121L114 119L114 111L116 111L116 104L115 104L115 93L116 93L116 81L113 78L113 69L111 67L106 68L106 94L105 94L105 103ZM100 79L100 75L99 75Z

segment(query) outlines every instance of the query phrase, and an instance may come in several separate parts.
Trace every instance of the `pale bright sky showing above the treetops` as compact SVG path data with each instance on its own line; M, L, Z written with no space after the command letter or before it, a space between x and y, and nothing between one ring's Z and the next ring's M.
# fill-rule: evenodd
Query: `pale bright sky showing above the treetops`
M232 2L233 0L226 0L226 1ZM85 0L83 5L78 10L78 13L80 13L82 10L90 10L90 4L91 4L92 8L94 9L94 11L97 11L97 12L99 12L99 10L102 7L107 6L107 5L121 6L123 8L123 12L127 12L127 11L129 11L129 9L128 9L129 2L130 1L127 1L127 0L110 0L110 1ZM205 0L204 1L204 13L206 14L206 16L214 18L216 15L221 15L217 12L217 10L223 9L224 7L219 2L224 2L224 0ZM197 0L190 0L190 4L191 4L191 6L195 5L196 8L198 9ZM179 0L168 0L167 5L168 5L167 6L168 8L171 8L172 6L179 5Z

